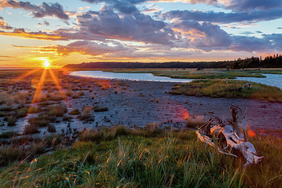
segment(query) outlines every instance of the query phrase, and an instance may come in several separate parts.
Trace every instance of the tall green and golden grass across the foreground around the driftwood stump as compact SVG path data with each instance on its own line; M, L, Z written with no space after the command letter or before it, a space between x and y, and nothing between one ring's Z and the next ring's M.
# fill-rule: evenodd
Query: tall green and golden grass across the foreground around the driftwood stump
M84 137L88 141L78 141L69 149L57 149L32 163L5 167L0 171L0 187L13 183L17 187L281 187L279 138L250 138L259 156L266 158L242 169L241 157L219 154L199 142L194 131L162 130L156 135L145 130L117 132L92 131L97 134L95 142ZM48 138L49 142L55 137L58 135ZM36 147L38 153L40 148ZM7 149L1 152L5 159L26 156L17 149L12 151L10 155Z

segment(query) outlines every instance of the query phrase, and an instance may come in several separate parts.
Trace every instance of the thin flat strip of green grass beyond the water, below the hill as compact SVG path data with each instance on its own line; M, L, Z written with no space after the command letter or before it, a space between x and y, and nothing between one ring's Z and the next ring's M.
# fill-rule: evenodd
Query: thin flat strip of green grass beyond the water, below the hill
M105 72L120 73L151 73L154 76L165 76L169 78L179 79L234 79L236 77L259 77L264 78L261 74L250 74L243 70L222 71L220 69L204 69L204 70L161 70L161 69L120 69L120 70L104 70Z

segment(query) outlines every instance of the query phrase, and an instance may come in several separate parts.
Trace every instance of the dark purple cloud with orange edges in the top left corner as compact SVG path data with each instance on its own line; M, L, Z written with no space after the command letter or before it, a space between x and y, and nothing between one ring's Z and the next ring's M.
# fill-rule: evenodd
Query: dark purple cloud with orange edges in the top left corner
M62 20L69 19L69 16L64 12L63 6L59 3L45 3L39 5L31 4L25 1L3 0L0 1L0 8L21 8L27 11L32 11L35 18L43 18L44 16L55 16Z

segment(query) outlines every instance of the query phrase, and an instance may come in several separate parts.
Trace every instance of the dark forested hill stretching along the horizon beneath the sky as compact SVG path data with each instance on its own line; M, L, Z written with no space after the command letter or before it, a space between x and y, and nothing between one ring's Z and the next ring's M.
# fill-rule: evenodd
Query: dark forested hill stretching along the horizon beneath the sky
M62 68L66 69L153 69L153 68L282 68L282 56L266 56L264 60L261 57L251 57L234 61L210 61L210 62L180 62L171 61L164 63L142 63L142 62L90 62L81 64L68 64Z

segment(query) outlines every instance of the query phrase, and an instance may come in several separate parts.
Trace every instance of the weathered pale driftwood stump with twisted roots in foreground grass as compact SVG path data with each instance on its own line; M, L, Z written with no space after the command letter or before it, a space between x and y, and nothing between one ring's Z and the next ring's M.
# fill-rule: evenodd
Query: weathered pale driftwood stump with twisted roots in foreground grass
M250 164L257 164L263 160L264 157L259 157L253 144L248 142L248 135L246 133L246 116L238 107L238 105L234 106L231 104L229 108L231 109L232 119L225 120L224 117L220 119L217 116L212 115L214 118L210 119L209 122L201 126L196 131L196 134L202 142L210 146L217 147L218 152L222 154L237 157L237 155L231 153L232 149L238 153L241 153L246 160L246 163L243 165L243 167L246 167ZM243 115L241 129L239 128L237 121L238 110L240 110ZM214 121L218 122L217 125L212 123ZM224 140L226 143L223 144L226 144L227 146L221 149L218 144L213 142L213 139L215 138L223 138L220 139L219 143Z

